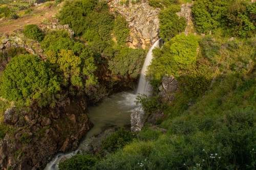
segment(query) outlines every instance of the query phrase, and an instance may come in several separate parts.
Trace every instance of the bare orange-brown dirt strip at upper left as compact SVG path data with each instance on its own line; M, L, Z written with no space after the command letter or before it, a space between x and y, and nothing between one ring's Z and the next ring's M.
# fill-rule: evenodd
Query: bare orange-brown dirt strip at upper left
M23 29L27 24L39 25L44 19L51 19L58 10L56 8L37 8L33 15L24 16L16 20L0 21L0 33L12 33L17 29Z

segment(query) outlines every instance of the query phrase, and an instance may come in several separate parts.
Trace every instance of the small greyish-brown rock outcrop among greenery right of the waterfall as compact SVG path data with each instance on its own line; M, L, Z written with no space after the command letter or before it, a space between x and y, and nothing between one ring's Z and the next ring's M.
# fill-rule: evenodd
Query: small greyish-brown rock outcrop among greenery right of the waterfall
M164 76L162 85L159 87L159 95L165 102L173 102L175 100L175 92L179 89L179 83L173 76Z

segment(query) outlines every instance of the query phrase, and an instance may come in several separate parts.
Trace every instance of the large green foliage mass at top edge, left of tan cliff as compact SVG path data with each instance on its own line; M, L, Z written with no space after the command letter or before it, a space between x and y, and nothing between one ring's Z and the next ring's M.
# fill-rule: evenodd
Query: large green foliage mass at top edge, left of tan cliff
M61 23L70 25L76 35L92 32L103 40L111 37L114 16L110 14L106 2L92 0L67 2L58 18Z

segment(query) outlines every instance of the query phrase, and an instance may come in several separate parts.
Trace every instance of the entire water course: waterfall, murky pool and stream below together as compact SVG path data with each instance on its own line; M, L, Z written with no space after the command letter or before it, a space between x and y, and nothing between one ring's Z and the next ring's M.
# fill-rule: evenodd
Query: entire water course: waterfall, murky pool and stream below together
M138 87L136 93L129 92L120 92L114 95L111 95L109 98L106 98L97 106L91 106L88 108L88 115L91 122L94 124L94 127L87 133L84 139L79 144L79 147L76 151L71 153L59 153L57 154L51 162L47 164L45 170L57 170L58 164L61 159L71 158L76 155L79 151L82 152L83 148L87 147L87 142L89 138L94 135L97 135L104 131L106 126L114 125L122 127L130 124L130 114L136 109L136 96L138 94L150 94L151 86L149 82L145 79L146 71L148 65L151 64L153 55L152 51L155 47L159 46L159 40L157 40L154 45L150 48L145 58Z

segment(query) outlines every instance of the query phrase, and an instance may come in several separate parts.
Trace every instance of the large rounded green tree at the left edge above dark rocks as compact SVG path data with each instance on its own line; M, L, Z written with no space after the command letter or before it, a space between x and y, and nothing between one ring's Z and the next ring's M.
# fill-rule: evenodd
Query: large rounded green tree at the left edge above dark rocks
M27 106L34 101L39 106L54 105L59 91L59 77L46 62L33 55L14 57L1 78L1 95Z

